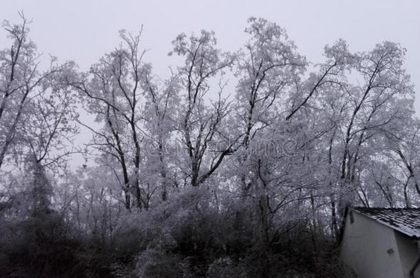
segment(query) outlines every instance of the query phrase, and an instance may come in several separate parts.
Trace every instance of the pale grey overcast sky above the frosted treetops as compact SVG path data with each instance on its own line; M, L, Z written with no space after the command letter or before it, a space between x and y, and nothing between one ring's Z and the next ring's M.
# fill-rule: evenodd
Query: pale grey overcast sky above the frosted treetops
M44 54L76 60L88 69L118 42L118 30L136 32L143 24L146 60L167 76L171 40L180 32L214 30L223 49L234 51L246 40L249 16L264 17L286 28L313 62L322 61L327 43L344 38L353 51L370 50L391 40L408 49L406 69L420 90L420 1L88 1L1 0L0 19L19 22L23 10L30 36ZM2 31L0 48L8 46ZM417 93L420 99L420 94ZM420 115L420 100L416 102Z

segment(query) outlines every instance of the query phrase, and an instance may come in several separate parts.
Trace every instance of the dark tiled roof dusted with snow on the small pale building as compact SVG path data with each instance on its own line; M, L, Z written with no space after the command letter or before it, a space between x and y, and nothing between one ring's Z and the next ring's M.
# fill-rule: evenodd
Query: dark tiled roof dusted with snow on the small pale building
M353 210L404 235L420 239L420 208L386 209L379 207L355 207Z

